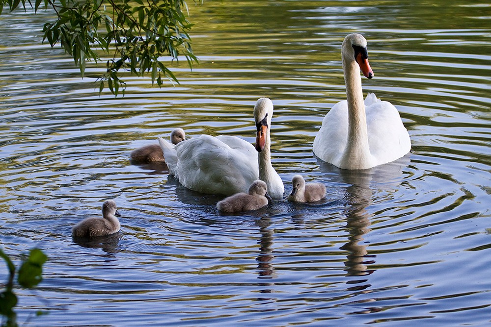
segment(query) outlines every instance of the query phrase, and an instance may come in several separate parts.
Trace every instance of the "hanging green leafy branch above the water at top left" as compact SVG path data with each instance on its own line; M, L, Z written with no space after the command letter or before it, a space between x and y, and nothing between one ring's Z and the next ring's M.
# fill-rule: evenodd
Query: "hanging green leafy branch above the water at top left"
M73 57L82 76L87 61L102 61L98 50L103 50L109 59L104 59L107 70L99 76L100 91L108 86L115 96L126 88L121 71L137 76L150 73L152 83L161 86L165 78L179 82L160 57L171 56L178 62L184 55L190 67L197 62L184 0L35 0L34 4L0 0L0 14L4 6L12 11L20 4L36 12L55 11L55 21L43 27L43 41L52 47L59 44Z

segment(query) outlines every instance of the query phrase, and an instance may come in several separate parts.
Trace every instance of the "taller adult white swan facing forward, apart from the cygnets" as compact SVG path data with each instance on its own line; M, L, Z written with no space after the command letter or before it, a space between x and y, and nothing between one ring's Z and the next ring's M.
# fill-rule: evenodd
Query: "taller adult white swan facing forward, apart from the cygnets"
M314 139L314 153L342 169L368 169L394 161L411 149L409 134L390 102L368 94L363 101L361 69L373 77L367 41L346 36L341 47L347 100L336 103L324 117Z

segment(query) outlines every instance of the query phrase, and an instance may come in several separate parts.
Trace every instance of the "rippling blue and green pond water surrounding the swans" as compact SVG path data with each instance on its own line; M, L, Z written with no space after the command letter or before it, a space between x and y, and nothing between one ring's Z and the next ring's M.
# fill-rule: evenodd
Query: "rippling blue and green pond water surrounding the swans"
M49 256L39 287L18 291L19 321L43 309L26 326L489 324L490 5L205 1L190 13L199 65L172 65L181 83L162 88L127 76L124 98L97 93L103 65L81 79L40 45L52 13L2 15L1 247L16 261L35 246ZM375 72L364 93L398 108L412 142L361 172L312 153L346 97L351 32ZM263 96L286 192L300 173L326 184L324 201L221 215L222 197L129 161L175 127L252 143ZM109 198L121 232L73 242L71 227Z

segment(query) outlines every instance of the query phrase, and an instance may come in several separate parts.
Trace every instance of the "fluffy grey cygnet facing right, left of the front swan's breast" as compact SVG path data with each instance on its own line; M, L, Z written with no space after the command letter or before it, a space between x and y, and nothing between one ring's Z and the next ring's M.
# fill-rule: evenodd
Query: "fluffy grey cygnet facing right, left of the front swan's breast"
M222 212L239 212L257 210L268 205L271 197L268 186L262 180L255 180L249 187L249 194L237 193L217 203L217 209Z

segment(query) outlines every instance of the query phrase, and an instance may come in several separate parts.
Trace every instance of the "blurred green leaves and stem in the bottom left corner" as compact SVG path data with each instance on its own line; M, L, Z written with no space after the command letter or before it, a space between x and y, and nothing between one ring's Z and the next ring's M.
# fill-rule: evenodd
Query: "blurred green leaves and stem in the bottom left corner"
M7 264L8 280L5 284L5 290L0 293L0 314L5 317L5 322L1 327L17 327L17 315L14 307L17 305L17 296L15 295L14 279L15 266L10 258L0 249L0 257ZM23 260L19 269L17 281L19 285L26 288L32 288L42 280L42 268L48 257L39 249L32 249L29 255ZM43 312L36 313L37 315Z

